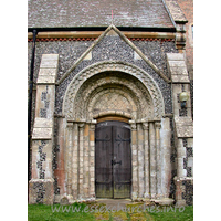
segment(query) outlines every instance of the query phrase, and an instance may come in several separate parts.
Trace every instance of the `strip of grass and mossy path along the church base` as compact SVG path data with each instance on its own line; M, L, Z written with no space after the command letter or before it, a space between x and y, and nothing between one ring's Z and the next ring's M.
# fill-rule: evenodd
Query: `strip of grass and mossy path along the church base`
M74 204L29 204L28 220L191 221L193 206L159 207L152 202L131 202L129 199L102 199Z

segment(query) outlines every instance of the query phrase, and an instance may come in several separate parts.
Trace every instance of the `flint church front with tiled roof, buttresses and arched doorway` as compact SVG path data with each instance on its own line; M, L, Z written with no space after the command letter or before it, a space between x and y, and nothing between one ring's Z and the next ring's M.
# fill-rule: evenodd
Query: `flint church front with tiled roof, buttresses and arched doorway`
M192 203L187 20L175 0L126 2L29 1L29 203Z

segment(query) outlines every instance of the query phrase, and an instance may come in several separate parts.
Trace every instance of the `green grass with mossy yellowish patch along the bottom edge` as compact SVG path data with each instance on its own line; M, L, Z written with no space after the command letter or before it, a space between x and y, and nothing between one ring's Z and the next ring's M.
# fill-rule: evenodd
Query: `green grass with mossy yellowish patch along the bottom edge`
M167 207L159 207L154 211L146 210L146 212L134 211L97 211L97 203L74 203L72 206L45 206L45 204L29 204L28 220L29 221L95 221L95 220L130 220L130 221L192 221L193 206L168 209ZM98 206L101 208L102 206Z

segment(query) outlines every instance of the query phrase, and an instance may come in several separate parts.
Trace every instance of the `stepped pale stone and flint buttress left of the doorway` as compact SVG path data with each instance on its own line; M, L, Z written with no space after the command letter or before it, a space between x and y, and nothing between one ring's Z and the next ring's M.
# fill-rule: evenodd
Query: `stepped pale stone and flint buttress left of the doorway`
M29 203L52 204L54 199L52 147L54 144L55 78L59 54L43 54L36 81L35 118L32 133L32 179Z

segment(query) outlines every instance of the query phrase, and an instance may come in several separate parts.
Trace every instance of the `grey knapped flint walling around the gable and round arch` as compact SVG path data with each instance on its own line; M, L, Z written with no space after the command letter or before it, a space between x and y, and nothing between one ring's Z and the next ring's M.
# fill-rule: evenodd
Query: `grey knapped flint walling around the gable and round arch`
M114 40L113 40L114 39ZM57 78L74 64L74 62L86 51L93 41L53 41L53 42L36 42L35 62L34 62L34 82L36 82L39 66L42 54L57 53L59 72ZM173 41L133 41L133 43L141 50L141 52L152 61L165 75L168 76L166 53L177 53ZM31 54L32 42L29 42L29 54ZM119 50L120 49L120 50ZM119 36L104 38L93 50L92 59L82 61L76 69L67 76L60 86L56 87L55 114L61 114L62 102L65 90L73 76L85 69L86 66L106 60L118 60L135 64L149 73L158 83L165 99L165 113L171 114L171 88L147 63L143 60L135 60L135 52ZM30 57L30 55L29 55ZM30 60L30 59L29 59ZM30 65L29 65L30 69ZM30 73L30 72L29 72Z

